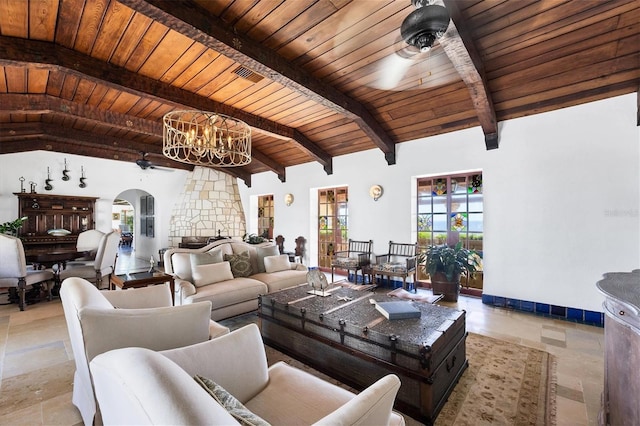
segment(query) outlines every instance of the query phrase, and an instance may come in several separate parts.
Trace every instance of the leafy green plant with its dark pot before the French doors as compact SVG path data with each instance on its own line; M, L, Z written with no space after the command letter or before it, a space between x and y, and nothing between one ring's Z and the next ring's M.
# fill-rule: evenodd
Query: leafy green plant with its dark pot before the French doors
M421 256L424 269L431 277L433 294L443 294L442 300L457 302L460 294L460 275L473 275L482 268L480 256L473 250L447 245L429 246Z

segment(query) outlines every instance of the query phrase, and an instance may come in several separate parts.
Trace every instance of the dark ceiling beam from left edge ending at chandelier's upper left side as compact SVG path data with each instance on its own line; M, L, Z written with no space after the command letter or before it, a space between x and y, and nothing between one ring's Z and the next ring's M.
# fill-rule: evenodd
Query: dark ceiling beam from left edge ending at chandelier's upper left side
M86 104L49 95L0 94L0 112L55 114L80 118L94 124L107 124L121 130L162 138L162 123L132 115L118 114Z

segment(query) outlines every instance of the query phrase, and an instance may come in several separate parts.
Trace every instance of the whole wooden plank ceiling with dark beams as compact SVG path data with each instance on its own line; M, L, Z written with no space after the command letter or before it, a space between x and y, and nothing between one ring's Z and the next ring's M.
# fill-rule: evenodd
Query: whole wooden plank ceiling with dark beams
M402 58L409 0L0 0L0 153L162 156L162 117L246 121L251 175L638 91L637 0L444 0ZM248 74L248 75L247 75ZM247 78L248 77L248 78ZM153 172L152 170L150 172Z

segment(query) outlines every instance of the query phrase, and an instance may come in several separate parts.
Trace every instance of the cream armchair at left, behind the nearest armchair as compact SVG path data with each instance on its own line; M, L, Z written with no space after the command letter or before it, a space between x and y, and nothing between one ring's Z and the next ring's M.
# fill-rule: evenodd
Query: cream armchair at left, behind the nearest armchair
M86 425L99 416L89 372L95 356L129 346L176 348L229 332L210 320L210 302L172 306L167 284L100 291L87 280L72 277L63 281L60 298L76 362L73 404Z

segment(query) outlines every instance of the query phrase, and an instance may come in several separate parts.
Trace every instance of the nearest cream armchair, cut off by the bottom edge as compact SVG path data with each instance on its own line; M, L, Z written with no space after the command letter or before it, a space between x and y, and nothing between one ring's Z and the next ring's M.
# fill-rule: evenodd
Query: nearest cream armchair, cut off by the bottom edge
M272 425L404 424L392 411L400 388L396 375L355 395L284 362L268 367L255 324L163 352L110 351L91 361L91 373L106 425L239 424L194 380L196 375L222 386Z

